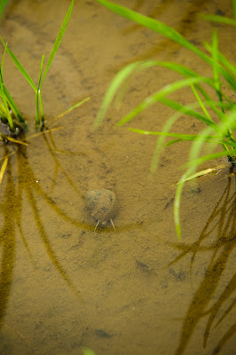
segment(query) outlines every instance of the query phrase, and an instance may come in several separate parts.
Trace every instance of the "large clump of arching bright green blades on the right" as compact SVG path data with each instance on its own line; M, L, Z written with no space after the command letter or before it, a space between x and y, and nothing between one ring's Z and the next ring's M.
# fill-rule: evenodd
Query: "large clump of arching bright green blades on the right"
M98 127L98 125L101 124L105 117L106 110L112 103L117 92L119 91L119 95L117 96L121 101L121 98L130 83L130 78L138 75L146 68L156 66L164 67L177 72L184 77L184 79L178 80L175 83L169 83L165 87L161 88L161 90L154 92L132 111L130 111L129 114L125 115L122 120L116 123L116 125L120 127L127 122L130 122L135 116L140 114L147 107L152 106L157 101L176 111L176 113L173 114L167 122L165 122L161 131L137 130L135 128L130 128L130 130L139 134L160 136L153 154L153 162L151 165L152 172L157 169L161 150L164 147L178 142L193 142L189 153L189 161L185 164L185 173L177 184L174 204L175 225L177 235L180 237L181 230L179 206L185 181L203 174L203 172L196 173L196 168L201 165L202 162L208 162L212 159L226 156L228 158L228 162L232 164L232 167L235 167L236 165L236 138L233 132L236 129L236 107L232 102L230 95L226 94L224 91L224 85L226 85L230 91L236 90L236 68L228 59L224 57L224 54L218 50L218 36L216 29L213 31L211 43L203 43L206 51L208 51L208 54L206 54L193 43L186 40L185 37L180 35L174 28L170 28L158 20L151 19L138 12L131 11L126 7L111 3L107 0L97 1L100 4L105 5L113 12L116 12L129 20L133 20L139 25L152 29L175 43L180 44L182 47L185 47L187 50L192 51L194 54L199 56L206 64L208 64L208 66L212 68L212 76L208 77L199 75L191 68L174 62L141 60L131 63L127 67L124 67L114 77L113 82L106 91L105 98L98 111L96 121L94 122L95 127ZM233 0L233 6L235 20L221 16L204 16L203 18L204 20L220 21L226 25L236 26L235 0ZM168 98L169 94L187 87L191 88L196 99L196 102L192 105L185 106L180 102ZM212 93L212 91L214 93ZM199 109L201 109L201 111ZM206 128L201 130L199 134L193 135L169 132L174 122L183 116L183 114L204 122L206 124ZM173 139L168 143L165 143L166 137ZM201 151L205 143L208 144L208 148L210 148L213 153L201 156ZM218 146L222 147L222 151L217 150Z

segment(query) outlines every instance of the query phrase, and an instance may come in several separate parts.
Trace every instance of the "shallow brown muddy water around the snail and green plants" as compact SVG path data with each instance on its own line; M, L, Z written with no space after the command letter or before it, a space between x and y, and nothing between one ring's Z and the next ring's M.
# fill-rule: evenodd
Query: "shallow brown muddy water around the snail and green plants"
M126 4L120 1L119 4ZM37 80L69 1L10 2L1 36ZM230 1L130 1L202 48L212 25L199 13L232 17ZM218 26L220 49L235 52L232 28ZM233 51L234 47L234 51ZM114 123L177 75L147 70L130 83L116 110L92 123L114 74L136 59L174 60L210 75L201 59L95 1L75 2L66 35L43 85L48 127L34 134L35 95L9 57L4 81L27 118L28 146L12 153L1 185L0 354L232 355L235 342L235 179L229 168L186 185L183 240L173 223L175 187L189 145L169 146L157 172L156 140ZM71 114L52 119L91 97ZM177 93L182 104L190 91ZM130 127L161 130L171 111L156 105ZM173 130L196 133L182 117ZM211 166L223 163L212 162ZM206 165L208 167L208 164ZM108 188L119 201L114 225L94 227L87 190ZM234 294L233 294L234 292Z

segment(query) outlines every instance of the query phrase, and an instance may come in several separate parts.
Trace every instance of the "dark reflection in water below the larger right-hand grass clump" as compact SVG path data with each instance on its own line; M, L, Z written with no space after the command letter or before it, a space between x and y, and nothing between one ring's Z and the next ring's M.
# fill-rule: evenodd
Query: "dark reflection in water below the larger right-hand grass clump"
M191 259L191 268L197 253L212 250L212 256L206 267L205 276L201 280L199 288L195 291L193 300L185 314L185 320L182 327L182 334L177 348L176 354L182 354L185 351L187 343L190 341L193 331L202 317L208 317L204 334L204 348L207 346L208 337L212 329L214 321L217 327L229 312L233 312L235 299L230 297L236 289L236 274L232 275L231 280L225 285L224 289L217 300L212 303L216 288L225 272L225 268L229 266L229 259L234 252L236 243L236 195L235 191L235 174L229 177L221 198L216 203L216 208L208 218L208 223L202 230L199 239L191 245L176 245L182 250L180 256L172 262L176 263L180 258L187 254L193 254ZM216 233L215 240L212 241L213 233ZM207 241L207 245L204 242ZM214 297L215 298L215 297ZM217 321L216 321L217 320ZM235 335L236 323L231 327L225 327L224 334L216 343L214 354L218 353L224 347L224 344Z

